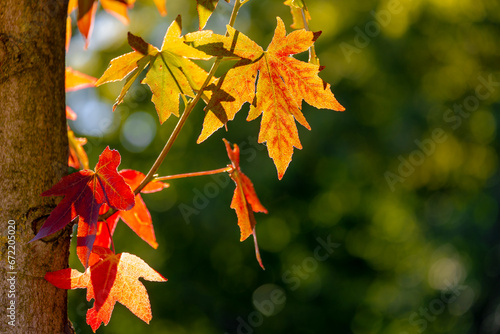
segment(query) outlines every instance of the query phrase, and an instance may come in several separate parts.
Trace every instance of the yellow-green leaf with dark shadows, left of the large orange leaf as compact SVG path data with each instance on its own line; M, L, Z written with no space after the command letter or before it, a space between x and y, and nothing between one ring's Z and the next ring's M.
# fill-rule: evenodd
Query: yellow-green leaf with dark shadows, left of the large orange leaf
M149 65L142 83L147 84L153 93L151 100L155 104L160 123L165 122L172 114L179 116L179 96L194 97L207 77L207 72L190 59L207 60L212 57L185 43L206 38L211 32L200 31L181 37L181 29L181 17L177 16L168 28L160 50L142 38L128 34L129 44L135 51L111 60L109 67L96 82L96 86L99 86L127 78L113 109L123 101L132 83Z

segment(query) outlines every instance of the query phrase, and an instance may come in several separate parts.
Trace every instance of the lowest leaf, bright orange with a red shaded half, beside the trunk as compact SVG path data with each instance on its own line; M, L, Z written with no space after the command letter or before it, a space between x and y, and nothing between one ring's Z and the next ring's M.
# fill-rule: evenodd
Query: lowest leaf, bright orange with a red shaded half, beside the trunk
M85 272L67 268L48 272L45 279L61 289L87 289L87 300L94 299L94 305L87 310L87 324L94 332L101 323L109 323L116 302L149 323L151 304L139 278L154 282L166 282L167 279L129 253L113 254L109 249L95 247L92 255L95 257Z

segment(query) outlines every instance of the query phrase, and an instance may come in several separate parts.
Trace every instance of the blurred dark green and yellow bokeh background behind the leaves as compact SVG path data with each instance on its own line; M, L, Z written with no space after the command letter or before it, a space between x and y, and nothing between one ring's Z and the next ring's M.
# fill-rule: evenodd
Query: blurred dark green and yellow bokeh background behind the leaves
M233 1L232 1L233 2ZM159 247L119 223L117 251L136 254L168 278L145 282L153 320L117 304L100 333L500 333L498 173L500 3L496 0L308 0L322 78L343 113L304 104L283 180L257 144L246 105L202 144L195 109L160 175L224 167L222 138L242 148L242 169L269 214L256 214L266 266L251 238L239 242L234 184L227 176L181 179L145 194ZM220 1L208 29L224 33ZM160 46L182 14L196 31L195 1L138 1L129 26L99 10L90 46L74 29L67 65L99 77L131 51L126 32ZM266 47L289 8L248 2L236 28ZM307 59L307 54L298 56ZM210 62L200 63L209 68ZM93 167L109 145L120 168L147 172L176 118L158 122L149 88L136 82L116 111L121 83L68 93L70 122ZM300 125L299 125L300 127ZM73 248L74 249L74 248ZM74 253L74 251L73 251ZM74 254L71 264L81 268ZM69 292L69 317L85 324L85 291Z

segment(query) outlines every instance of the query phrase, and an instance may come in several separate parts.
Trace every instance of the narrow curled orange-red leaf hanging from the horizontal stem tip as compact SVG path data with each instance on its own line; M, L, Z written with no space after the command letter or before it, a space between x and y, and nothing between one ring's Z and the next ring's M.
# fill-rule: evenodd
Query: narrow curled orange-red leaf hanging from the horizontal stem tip
M240 168L240 148L238 145L234 144L231 148L231 144L226 140L224 144L226 145L227 155L231 160L232 169L229 172L229 176L233 179L236 184L236 189L234 190L233 199L231 201L231 209L236 211L238 216L238 226L240 227L240 241L246 240L251 234L254 237L255 243L255 256L259 262L262 269L264 265L260 258L259 246L257 244L257 235L255 234L255 216L254 212L264 212L267 213L266 208L260 203L259 198L255 192L252 181L243 174Z

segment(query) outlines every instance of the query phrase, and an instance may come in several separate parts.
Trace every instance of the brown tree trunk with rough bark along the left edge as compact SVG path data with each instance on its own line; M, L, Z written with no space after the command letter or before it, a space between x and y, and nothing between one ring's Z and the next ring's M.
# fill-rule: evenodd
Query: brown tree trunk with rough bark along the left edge
M40 194L67 172L67 5L0 5L1 333L71 332L66 290L44 279L68 267L70 228L28 243L59 200Z

